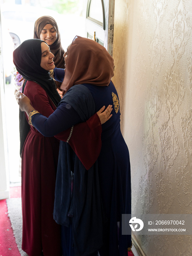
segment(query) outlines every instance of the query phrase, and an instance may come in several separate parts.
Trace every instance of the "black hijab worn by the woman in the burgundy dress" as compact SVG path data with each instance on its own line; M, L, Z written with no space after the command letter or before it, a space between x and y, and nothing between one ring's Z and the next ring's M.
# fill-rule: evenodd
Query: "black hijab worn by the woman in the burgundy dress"
M13 62L20 75L26 79L23 84L23 90L27 80L38 83L49 95L54 105L57 107L61 100L56 90L53 78L50 78L49 71L40 66L41 64L41 43L40 39L29 39L24 41L13 52ZM29 132L29 124L27 123L25 112L19 109L19 130L20 130L20 156L27 133Z

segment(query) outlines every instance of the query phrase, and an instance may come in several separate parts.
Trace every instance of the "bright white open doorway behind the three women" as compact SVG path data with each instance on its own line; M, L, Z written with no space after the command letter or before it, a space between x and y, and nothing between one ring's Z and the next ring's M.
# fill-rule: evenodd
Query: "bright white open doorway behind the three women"
M70 3L71 2L71 3ZM52 16L59 27L65 50L76 34L84 36L84 0L68 1L54 6L52 1L11 1L0 4L3 28L5 126L7 133L8 172L10 183L21 182L19 156L19 106L15 100L14 65L12 52L23 41L33 38L34 22L43 15ZM9 34L10 33L10 34ZM6 34L6 39L5 39ZM9 34L9 35L8 35ZM10 36L11 35L11 36ZM11 37L14 45L11 45ZM1 83L2 86L2 83Z

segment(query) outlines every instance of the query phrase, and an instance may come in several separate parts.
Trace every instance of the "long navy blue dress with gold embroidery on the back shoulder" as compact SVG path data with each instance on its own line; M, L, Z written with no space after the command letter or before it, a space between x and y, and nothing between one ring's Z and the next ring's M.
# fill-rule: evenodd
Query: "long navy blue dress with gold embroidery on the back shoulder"
M109 104L113 116L102 125L101 153L89 170L68 143L60 142L54 219L68 227L64 229L64 255L99 251L101 256L127 256L131 247L131 236L121 235L121 214L131 214L131 173L117 91L112 82L109 86L78 84L67 91L49 118L32 117L36 129L53 136Z

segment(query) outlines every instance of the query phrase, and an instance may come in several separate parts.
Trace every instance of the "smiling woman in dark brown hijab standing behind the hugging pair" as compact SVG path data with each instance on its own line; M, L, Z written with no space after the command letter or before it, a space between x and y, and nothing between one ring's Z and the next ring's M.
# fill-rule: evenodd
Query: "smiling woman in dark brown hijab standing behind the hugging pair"
M56 21L51 16L42 16L35 21L34 38L45 41L50 51L54 54L54 64L56 68L65 68L63 61L64 49L61 45L61 38ZM57 88L61 83L56 82Z

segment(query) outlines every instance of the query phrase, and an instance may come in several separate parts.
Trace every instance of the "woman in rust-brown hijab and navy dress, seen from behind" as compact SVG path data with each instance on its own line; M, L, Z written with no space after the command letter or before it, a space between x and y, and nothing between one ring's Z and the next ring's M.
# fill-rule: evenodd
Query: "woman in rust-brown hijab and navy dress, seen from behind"
M113 115L102 124L101 151L89 170L68 143L60 143L53 216L62 225L63 255L127 256L131 235L122 235L121 215L131 214L131 173L118 94L111 82L113 58L97 42L79 36L64 56L65 94L49 118L37 113L25 95L19 99L34 127L53 136L87 120L104 102L113 105Z

